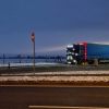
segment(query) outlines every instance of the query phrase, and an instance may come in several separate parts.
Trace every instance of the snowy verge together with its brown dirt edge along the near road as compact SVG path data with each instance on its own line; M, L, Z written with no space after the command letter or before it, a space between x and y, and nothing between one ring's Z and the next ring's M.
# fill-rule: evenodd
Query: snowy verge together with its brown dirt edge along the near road
M69 72L70 73L70 72ZM104 75L23 75L23 76L0 76L2 85L97 85L109 86L109 76Z

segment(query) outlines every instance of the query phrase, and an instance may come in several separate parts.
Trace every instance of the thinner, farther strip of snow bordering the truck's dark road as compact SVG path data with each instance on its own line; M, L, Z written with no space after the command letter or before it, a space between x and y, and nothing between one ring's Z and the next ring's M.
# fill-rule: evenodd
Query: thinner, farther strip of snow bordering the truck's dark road
M13 75L27 75L27 76L29 76L29 75L36 75L36 76L44 76L44 75L45 75L45 76L46 76L46 75L47 75L47 76L48 76L48 75L49 75L49 76L50 76L50 75L52 75L52 76L55 76L55 75L57 75L57 76L58 76L58 75L59 75L59 76L60 76L60 75L66 75L66 76L68 76L68 75L82 75L82 76L83 76L84 74L85 74L85 75L86 75L86 74L87 74L87 75L88 75L88 74L89 74L89 75L90 75L90 74L93 74L93 75L94 75L94 74L97 74L97 75L101 75L101 74L104 75L104 74L105 74L105 75L106 75L106 74L109 74L109 71L64 71L64 72L62 72L62 71L59 71L59 72L58 72L58 71L57 71L57 72L39 72L39 73L38 73L38 72L36 72L36 73L35 73L35 72L28 73L28 72L27 72L27 73L2 73L2 74L0 74L0 75L1 75L1 76L4 76L4 75L12 75L12 76L13 76Z

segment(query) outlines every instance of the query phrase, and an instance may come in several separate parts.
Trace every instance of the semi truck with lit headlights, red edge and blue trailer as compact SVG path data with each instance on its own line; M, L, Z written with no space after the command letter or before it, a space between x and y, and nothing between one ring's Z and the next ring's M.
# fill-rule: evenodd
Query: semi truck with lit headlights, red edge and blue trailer
M68 45L66 62L69 64L109 62L109 44L85 41Z

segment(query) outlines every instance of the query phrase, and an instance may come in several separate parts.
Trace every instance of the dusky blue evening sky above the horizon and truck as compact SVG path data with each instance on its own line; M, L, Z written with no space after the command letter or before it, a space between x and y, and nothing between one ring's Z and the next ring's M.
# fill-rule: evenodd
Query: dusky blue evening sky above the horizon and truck
M0 53L61 55L69 44L109 41L109 0L0 0Z

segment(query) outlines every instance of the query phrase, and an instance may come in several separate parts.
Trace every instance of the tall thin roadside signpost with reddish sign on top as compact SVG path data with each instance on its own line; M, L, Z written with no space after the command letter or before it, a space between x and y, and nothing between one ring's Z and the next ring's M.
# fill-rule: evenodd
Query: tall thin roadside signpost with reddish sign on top
M31 39L33 41L33 71L35 73L35 33L34 32L31 35Z

